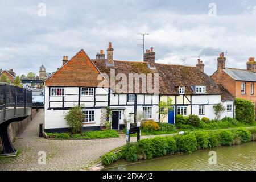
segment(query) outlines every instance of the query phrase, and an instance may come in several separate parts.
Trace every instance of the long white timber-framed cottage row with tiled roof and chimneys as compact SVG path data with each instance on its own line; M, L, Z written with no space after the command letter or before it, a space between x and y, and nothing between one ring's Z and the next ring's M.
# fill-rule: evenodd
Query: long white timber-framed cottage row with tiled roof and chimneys
M152 47L146 51L144 62L118 61L113 59L113 51L109 42L107 59L102 50L96 59L90 59L83 49L69 60L63 57L63 65L44 84L44 131L69 131L64 116L74 105L81 105L84 110L83 131L101 129L107 120L106 107L112 110L109 118L112 129L121 130L127 121L136 122L138 112L145 120L159 122L159 101L168 98L172 98L175 109L160 122L175 123L177 114L214 119L212 106L218 103L232 104L232 109L228 106L230 111L222 117L233 117L234 99L203 72L201 61L196 67L158 64ZM138 80L133 77L130 80L131 73L137 74ZM142 86L143 74L152 76L150 89L148 85L146 89ZM124 80L127 87L120 87L119 83Z

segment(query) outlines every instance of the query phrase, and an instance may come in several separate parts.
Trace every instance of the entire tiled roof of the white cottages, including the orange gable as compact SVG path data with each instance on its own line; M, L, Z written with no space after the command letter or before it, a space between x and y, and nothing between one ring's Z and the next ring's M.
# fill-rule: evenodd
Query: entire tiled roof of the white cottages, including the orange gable
M46 86L97 87L100 82L97 81L98 74L106 73L110 77L110 68L115 69L115 75L124 73L127 81L129 73L159 73L160 94L179 94L177 85L183 85L186 94L193 94L192 87L196 85L207 86L207 94L221 94L221 90L212 78L196 67L155 63L156 69L150 69L147 63L117 60L114 60L114 66L107 67L106 60L90 60L83 50L49 77ZM115 81L116 84L118 82Z

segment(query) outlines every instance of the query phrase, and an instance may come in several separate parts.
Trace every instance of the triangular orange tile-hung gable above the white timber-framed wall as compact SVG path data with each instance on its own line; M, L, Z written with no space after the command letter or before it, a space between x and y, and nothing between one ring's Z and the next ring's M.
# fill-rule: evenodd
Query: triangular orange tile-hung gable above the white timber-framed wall
M97 87L99 73L88 55L81 49L66 64L47 78L45 85Z

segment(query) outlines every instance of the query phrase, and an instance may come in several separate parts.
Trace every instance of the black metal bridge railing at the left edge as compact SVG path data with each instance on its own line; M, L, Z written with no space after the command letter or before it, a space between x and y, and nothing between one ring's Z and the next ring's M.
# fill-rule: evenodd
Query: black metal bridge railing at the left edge
M0 83L0 109L31 107L32 92L18 86Z

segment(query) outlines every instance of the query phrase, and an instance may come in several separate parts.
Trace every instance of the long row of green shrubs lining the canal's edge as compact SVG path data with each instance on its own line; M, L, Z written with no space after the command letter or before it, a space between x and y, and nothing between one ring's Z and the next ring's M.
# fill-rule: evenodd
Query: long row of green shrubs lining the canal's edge
M116 152L101 156L102 164L108 165L120 159L136 161L152 159L177 152L191 153L196 150L218 146L230 146L256 140L256 127L245 129L198 130L172 137L142 139L121 147Z

